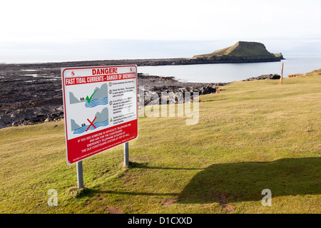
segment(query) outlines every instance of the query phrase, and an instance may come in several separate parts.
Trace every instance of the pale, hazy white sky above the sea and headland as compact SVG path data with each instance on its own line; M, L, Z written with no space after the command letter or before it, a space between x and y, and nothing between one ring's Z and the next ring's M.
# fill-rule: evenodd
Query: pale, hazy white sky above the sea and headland
M320 0L4 1L0 62L180 58L264 43L321 56Z

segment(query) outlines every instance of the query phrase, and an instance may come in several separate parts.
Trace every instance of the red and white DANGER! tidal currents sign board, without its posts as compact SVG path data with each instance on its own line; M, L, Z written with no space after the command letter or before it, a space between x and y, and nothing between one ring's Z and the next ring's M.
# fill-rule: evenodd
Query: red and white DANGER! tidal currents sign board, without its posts
M61 68L67 164L138 136L137 66Z

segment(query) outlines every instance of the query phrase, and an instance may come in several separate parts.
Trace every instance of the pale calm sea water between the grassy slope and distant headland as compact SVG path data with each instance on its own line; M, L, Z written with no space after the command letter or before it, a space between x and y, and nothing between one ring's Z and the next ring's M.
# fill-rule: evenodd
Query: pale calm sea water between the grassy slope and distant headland
M174 76L178 81L196 83L228 83L263 74L281 75L307 73L321 68L321 57L287 57L281 62L270 63L214 63L173 66L138 66L138 73L150 76Z

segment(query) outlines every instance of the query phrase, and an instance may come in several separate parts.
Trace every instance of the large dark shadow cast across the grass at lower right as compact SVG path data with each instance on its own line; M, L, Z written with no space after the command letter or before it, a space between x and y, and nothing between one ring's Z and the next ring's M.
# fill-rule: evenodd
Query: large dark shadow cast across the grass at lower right
M272 197L321 194L321 157L285 158L273 162L210 165L180 192L180 203L243 202Z

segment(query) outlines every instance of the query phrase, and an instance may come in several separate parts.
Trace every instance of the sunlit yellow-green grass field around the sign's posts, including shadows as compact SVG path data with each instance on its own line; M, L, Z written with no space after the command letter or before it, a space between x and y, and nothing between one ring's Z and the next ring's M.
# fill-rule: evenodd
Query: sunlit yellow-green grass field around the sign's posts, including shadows
M123 146L83 160L83 190L62 121L1 129L0 213L320 213L321 76L283 83L203 95L196 125L139 118L130 167Z

